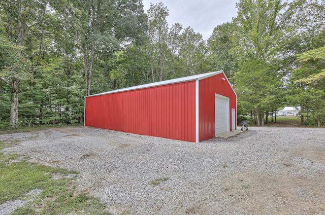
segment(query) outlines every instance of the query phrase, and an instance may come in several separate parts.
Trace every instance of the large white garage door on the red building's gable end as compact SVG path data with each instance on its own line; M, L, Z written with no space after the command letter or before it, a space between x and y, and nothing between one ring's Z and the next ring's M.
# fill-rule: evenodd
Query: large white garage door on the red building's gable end
M215 134L229 130L229 98L215 94Z

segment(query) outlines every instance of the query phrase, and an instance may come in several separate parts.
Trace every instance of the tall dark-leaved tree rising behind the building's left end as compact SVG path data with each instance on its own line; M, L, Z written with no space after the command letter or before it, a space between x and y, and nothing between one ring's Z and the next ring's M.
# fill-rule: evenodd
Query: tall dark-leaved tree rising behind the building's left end
M87 96L99 58L139 39L146 30L146 16L140 0L76 0L75 8Z

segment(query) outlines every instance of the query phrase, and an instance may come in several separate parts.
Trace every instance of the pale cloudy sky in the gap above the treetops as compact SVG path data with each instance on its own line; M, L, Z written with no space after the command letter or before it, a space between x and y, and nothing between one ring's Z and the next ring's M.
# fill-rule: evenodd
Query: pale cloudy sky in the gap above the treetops
M236 3L239 0L142 0L145 12L150 3L155 5L159 2L169 10L169 27L175 23L182 24L183 28L190 26L208 40L217 25L231 22L237 16Z

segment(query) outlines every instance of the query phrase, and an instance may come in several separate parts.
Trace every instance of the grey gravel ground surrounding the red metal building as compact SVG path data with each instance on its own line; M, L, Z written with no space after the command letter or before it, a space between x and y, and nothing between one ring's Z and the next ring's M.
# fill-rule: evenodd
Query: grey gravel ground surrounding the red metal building
M20 140L5 153L79 171L78 192L113 214L325 214L325 129L249 129L199 144L89 127L0 139Z

